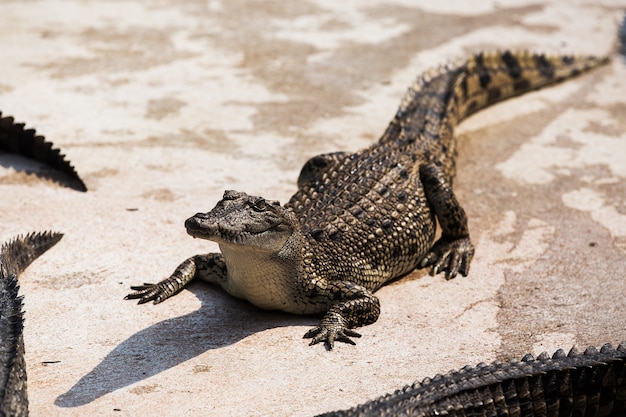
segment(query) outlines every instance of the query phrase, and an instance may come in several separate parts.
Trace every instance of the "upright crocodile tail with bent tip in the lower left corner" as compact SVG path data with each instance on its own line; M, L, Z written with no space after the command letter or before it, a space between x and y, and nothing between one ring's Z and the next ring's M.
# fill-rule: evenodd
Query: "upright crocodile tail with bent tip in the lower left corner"
M24 319L17 276L61 237L60 233L31 233L0 249L0 417L28 415Z

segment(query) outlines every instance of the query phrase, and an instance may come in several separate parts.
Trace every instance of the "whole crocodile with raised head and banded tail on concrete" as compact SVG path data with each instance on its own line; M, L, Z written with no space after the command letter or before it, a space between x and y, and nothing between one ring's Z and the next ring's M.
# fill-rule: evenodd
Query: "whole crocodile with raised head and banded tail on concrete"
M480 53L432 70L409 88L382 138L356 153L310 159L281 206L226 191L185 223L221 254L186 260L127 299L159 303L200 278L265 309L324 314L311 344L354 343L374 323L374 291L417 267L466 276L474 255L465 211L452 191L458 122L497 101L605 63L604 58ZM436 223L441 237L434 242ZM434 242L434 243L433 243Z

